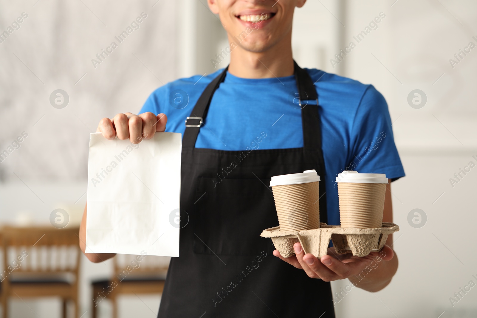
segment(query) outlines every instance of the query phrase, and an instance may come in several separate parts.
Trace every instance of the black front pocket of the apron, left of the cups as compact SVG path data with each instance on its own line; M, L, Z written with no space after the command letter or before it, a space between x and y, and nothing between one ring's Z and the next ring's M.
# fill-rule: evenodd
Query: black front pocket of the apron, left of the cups
M275 249L270 239L260 237L266 228L278 226L270 180L197 179L197 197L192 215L194 252L211 255L260 255Z

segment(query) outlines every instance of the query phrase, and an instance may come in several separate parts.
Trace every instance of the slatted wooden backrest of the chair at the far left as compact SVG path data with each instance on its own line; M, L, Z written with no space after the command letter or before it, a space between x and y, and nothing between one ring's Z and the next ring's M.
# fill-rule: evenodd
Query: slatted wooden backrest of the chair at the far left
M78 277L80 262L79 228L3 227L3 270L10 274L70 273Z

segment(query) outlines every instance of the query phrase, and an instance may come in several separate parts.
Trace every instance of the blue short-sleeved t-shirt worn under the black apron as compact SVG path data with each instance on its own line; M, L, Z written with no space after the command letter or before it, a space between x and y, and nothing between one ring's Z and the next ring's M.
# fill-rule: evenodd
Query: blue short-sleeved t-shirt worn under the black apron
M404 176L404 169L383 95L372 85L316 69L306 70L319 96L328 224L339 225L337 174L355 170L386 174L395 180ZM220 72L178 79L159 87L140 113L165 113L166 132L184 133L186 117L207 84ZM247 79L227 72L212 98L196 147L217 150L303 147L296 91L293 75ZM313 103L316 101L309 102Z

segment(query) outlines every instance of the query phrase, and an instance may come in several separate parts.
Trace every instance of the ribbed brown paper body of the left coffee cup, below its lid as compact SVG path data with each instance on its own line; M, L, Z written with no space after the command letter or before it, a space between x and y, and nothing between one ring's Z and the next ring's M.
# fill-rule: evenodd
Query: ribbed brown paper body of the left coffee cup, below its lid
M320 227L319 182L272 186L280 231Z

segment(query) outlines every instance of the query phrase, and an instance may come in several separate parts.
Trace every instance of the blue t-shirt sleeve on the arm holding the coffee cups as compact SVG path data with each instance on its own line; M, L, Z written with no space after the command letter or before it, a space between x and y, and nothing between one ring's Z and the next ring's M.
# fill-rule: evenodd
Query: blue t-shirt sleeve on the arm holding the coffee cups
M391 125L384 96L369 85L354 117L350 155L352 170L386 174L393 181L405 175Z

